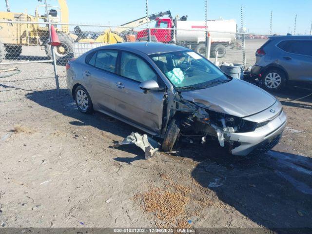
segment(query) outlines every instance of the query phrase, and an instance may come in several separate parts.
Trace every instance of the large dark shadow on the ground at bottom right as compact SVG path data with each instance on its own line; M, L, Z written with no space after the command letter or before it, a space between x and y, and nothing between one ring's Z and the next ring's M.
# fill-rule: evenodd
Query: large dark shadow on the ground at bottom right
M278 233L312 228L312 158L276 151L254 158L209 153L192 176L259 225Z

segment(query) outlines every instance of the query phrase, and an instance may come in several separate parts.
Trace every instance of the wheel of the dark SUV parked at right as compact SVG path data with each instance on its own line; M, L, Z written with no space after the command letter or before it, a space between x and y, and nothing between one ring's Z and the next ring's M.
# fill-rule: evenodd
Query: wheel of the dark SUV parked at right
M273 68L263 74L262 85L267 91L279 91L286 83L286 75L282 70Z

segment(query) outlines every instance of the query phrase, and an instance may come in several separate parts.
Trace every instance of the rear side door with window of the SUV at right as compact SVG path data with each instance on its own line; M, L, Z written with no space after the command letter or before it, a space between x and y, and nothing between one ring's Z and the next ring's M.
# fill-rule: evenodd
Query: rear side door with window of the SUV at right
M277 47L284 51L280 65L290 80L312 81L312 40L283 40Z

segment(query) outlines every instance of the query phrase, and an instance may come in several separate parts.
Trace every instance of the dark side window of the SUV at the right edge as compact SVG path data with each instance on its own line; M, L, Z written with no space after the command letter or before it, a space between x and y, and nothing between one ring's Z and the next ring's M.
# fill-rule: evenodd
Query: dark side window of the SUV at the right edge
M283 40L277 47L289 53L312 56L312 40Z

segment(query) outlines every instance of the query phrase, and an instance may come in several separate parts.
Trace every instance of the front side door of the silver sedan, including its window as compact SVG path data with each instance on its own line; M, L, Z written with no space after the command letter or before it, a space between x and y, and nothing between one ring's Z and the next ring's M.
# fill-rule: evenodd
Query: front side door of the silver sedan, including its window
M122 118L160 134L164 91L144 92L141 82L154 79L164 87L148 62L140 56L122 51L116 79L116 113Z

